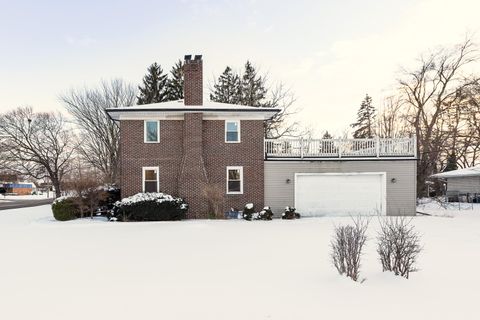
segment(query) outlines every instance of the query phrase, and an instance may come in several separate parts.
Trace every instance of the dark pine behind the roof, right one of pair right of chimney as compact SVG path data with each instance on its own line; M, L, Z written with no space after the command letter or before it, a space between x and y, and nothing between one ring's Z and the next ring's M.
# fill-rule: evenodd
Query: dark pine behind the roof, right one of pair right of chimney
M267 106L265 102L267 89L265 88L265 79L257 74L257 71L247 61L245 71L241 81L242 97L240 103L246 106L262 107Z

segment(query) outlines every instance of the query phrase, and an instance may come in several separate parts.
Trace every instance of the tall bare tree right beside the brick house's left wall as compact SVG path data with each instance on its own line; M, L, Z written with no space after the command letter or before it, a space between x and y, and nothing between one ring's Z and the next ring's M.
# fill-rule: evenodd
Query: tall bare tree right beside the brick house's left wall
M117 183L120 129L105 109L134 105L135 88L114 79L102 81L97 88L72 89L62 94L60 100L83 131L82 156L103 173L105 182Z

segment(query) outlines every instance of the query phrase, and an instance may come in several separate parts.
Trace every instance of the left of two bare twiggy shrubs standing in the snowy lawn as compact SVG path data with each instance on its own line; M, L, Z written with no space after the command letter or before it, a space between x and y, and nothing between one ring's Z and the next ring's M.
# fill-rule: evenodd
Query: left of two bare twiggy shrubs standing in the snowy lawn
M367 241L369 220L365 217L353 219L353 225L337 226L331 242L331 258L338 273L358 281L360 258Z

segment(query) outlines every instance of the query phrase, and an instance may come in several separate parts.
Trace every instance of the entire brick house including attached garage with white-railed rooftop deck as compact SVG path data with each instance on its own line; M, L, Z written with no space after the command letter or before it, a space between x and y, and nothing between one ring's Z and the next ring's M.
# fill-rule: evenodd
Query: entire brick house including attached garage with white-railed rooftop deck
M265 140L279 109L203 99L203 61L186 56L184 100L107 109L120 123L122 197L165 192L207 217L206 188L223 210L287 205L304 215L415 214L415 139Z

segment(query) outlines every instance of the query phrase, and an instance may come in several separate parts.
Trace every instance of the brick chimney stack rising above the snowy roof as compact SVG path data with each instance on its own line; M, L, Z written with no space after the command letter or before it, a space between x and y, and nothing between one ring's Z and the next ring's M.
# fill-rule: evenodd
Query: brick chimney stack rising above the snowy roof
M185 56L185 65L183 67L185 82L183 95L186 106L203 105L203 63L202 56Z

